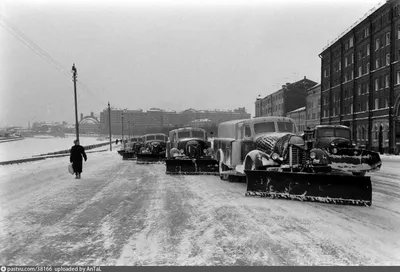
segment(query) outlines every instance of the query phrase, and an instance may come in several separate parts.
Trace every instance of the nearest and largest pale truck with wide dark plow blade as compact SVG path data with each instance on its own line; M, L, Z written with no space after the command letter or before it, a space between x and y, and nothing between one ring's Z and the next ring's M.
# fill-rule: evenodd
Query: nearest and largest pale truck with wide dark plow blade
M214 152L221 179L245 177L246 196L371 205L370 177L333 171L328 153L297 134L287 117L219 124Z

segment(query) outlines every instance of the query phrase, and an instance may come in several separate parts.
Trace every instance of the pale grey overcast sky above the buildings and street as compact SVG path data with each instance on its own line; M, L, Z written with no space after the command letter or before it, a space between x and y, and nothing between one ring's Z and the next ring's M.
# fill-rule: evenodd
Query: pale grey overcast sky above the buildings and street
M73 123L72 63L84 115L108 101L254 115L259 94L319 83L318 54L380 2L0 0L0 126Z

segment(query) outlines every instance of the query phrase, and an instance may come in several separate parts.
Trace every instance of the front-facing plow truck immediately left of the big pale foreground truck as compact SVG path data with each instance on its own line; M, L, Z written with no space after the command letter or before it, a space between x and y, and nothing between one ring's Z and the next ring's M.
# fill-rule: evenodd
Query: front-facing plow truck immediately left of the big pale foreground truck
M166 173L170 175L219 175L211 142L202 128L185 127L169 132Z

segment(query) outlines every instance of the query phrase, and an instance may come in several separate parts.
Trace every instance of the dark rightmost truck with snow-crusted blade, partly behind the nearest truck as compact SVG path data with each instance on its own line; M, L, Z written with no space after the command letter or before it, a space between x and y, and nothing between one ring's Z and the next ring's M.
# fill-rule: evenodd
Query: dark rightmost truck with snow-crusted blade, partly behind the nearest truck
M356 148L347 126L318 125L312 130L305 130L303 139L311 142L313 147L325 150L334 170L364 176L367 172L380 170L382 166L378 152Z

